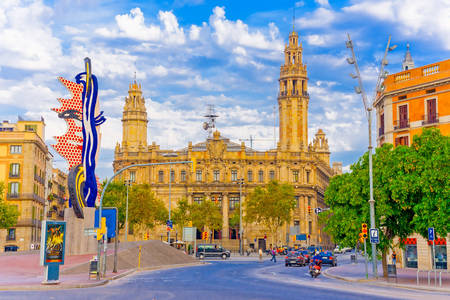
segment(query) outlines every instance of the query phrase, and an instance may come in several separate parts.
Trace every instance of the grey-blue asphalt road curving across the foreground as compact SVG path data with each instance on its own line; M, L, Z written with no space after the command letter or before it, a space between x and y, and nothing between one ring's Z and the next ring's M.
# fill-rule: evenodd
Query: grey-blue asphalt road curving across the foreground
M108 285L71 290L1 291L0 299L445 299L439 293L349 283L307 267L239 258L198 267L141 272ZM448 298L446 298L448 299Z

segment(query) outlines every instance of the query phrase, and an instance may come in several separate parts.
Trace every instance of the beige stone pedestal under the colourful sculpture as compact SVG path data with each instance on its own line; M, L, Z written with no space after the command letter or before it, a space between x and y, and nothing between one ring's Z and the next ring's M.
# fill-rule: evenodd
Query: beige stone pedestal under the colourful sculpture
M83 208L84 219L75 216L71 207L64 210L66 221L66 255L96 254L95 236L84 234L85 228L94 228L95 208Z

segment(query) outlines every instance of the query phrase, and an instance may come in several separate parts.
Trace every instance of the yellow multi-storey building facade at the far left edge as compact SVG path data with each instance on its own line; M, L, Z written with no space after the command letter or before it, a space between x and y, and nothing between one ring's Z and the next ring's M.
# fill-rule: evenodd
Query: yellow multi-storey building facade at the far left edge
M39 248L44 215L48 148L44 120L0 124L0 182L6 203L20 216L13 228L0 229L0 251Z

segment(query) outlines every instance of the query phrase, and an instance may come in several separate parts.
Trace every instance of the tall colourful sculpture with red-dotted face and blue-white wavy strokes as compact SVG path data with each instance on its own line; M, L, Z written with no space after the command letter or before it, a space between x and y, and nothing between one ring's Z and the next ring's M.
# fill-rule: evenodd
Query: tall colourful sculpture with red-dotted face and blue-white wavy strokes
M95 207L99 196L95 176L97 153L100 148L98 127L105 122L98 112L98 82L91 72L91 60L84 59L86 72L75 76L75 82L59 77L70 91L70 99L59 98L60 108L52 110L66 120L67 132L55 137L53 148L69 163L68 188L75 215L83 218L83 207Z

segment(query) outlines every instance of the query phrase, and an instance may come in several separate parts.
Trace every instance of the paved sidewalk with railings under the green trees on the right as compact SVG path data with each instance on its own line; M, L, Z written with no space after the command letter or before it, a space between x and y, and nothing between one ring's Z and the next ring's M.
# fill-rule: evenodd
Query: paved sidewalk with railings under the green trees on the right
M441 273L442 285L439 285L439 272ZM428 271L419 272L419 284L417 284L417 270L416 269L397 269L397 278L384 278L383 267L381 263L378 264L378 279L372 276L372 264L368 263L369 278L366 279L364 260L358 259L357 264L350 263L350 259L345 256L338 257L338 266L328 268L324 271L325 275L336 279L352 281L352 282L367 282L376 285L389 285L395 287L406 287L414 289L426 289L434 291L448 291L450 292L450 273L447 270L436 271L436 285L434 282L434 272L430 273L430 285L428 285Z

